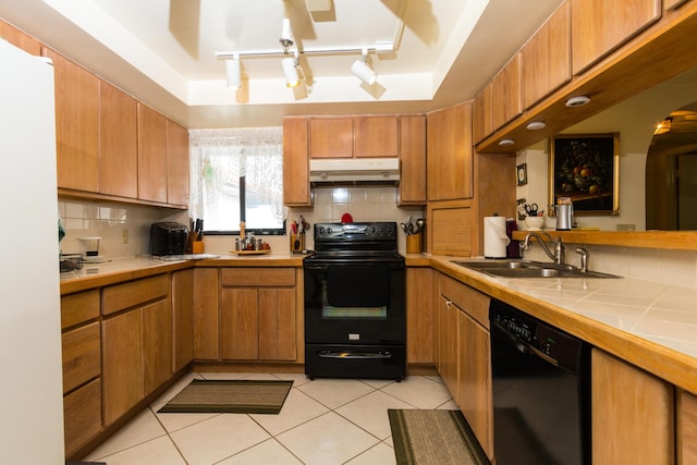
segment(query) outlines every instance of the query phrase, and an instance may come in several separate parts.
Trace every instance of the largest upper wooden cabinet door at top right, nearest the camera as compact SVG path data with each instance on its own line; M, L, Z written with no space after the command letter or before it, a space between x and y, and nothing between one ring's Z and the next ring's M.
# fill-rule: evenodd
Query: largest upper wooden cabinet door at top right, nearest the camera
M577 75L661 17L660 0L568 0Z

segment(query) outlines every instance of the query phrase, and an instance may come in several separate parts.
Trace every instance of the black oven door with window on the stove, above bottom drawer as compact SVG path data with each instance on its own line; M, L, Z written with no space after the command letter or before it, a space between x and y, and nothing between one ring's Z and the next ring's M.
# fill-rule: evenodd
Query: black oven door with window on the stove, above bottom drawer
M306 343L405 343L403 259L307 259L304 272Z

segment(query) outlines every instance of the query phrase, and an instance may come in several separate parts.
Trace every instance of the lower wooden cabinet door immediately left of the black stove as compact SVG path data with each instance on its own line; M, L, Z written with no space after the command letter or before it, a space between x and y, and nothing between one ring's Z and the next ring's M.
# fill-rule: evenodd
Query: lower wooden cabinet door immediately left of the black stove
M259 290L259 358L295 360L295 290Z

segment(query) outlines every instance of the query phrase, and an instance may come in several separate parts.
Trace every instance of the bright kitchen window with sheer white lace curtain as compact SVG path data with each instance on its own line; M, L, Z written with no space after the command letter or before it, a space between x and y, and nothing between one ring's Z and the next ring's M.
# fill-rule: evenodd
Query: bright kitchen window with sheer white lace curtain
M207 234L284 234L281 129L191 131L193 218Z

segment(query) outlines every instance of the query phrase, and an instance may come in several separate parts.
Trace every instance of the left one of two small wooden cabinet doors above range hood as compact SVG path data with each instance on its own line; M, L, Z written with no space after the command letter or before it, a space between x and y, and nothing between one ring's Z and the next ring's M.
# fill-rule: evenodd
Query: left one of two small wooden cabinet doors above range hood
M352 158L353 119L310 118L310 158Z

